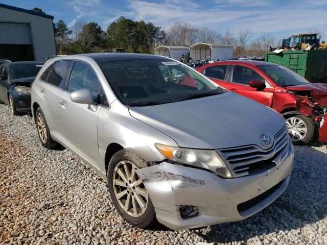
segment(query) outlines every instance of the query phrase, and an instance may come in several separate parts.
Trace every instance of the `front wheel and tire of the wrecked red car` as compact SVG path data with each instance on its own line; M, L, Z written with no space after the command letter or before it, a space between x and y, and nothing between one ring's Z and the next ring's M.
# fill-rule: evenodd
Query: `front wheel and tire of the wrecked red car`
M315 122L310 117L292 115L285 120L293 144L309 144L315 139Z

